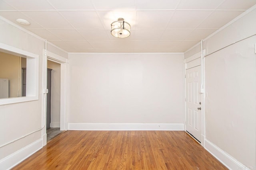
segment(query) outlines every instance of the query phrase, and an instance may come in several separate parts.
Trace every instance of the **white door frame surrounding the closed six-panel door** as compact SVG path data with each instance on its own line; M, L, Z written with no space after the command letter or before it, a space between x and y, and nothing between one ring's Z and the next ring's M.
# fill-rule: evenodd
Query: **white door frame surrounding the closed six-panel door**
M185 94L185 120L184 120L184 127L185 127L185 131L186 131L186 70L189 68L193 68L195 66L204 66L204 63L201 65L201 52L196 53L195 55L192 55L191 57L188 57L187 59L185 59L185 86L184 86L184 94ZM202 72L204 72L204 68L202 69ZM203 74L204 75L204 74ZM203 82L204 84L204 77L201 78L201 82ZM201 145L204 147L204 139L205 139L205 112L204 112L204 98L205 98L205 93L201 93L201 102L202 102L202 109L201 109ZM187 133L187 132L186 132ZM187 133L188 135L190 135L189 133ZM190 135L191 136L191 135ZM196 140L195 140L196 141ZM197 141L198 142L198 141Z

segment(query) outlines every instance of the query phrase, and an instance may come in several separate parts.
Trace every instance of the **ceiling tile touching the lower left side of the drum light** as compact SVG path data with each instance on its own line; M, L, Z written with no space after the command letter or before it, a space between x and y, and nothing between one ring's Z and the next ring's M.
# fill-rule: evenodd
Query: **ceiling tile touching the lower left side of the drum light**
M105 30L102 29L78 29L86 40L109 40Z

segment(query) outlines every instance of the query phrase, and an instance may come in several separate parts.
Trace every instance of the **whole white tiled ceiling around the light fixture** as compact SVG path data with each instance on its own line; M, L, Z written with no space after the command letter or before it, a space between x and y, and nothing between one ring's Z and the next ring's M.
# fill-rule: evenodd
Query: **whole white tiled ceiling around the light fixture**
M0 15L68 52L184 52L256 0L0 0ZM124 18L131 35L110 34ZM17 23L18 24L18 23Z

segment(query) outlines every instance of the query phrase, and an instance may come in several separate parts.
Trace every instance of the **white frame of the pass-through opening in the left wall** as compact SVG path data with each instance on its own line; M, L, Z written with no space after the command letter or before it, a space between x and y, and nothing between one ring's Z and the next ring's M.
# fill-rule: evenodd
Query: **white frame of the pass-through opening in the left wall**
M39 55L0 43L0 51L26 57L26 96L0 99L0 105L38 100Z

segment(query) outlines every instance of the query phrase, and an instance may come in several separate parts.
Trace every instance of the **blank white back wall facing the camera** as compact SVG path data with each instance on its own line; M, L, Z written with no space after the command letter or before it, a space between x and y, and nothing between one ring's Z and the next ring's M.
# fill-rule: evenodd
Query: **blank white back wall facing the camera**
M70 54L69 123L183 123L183 54Z

